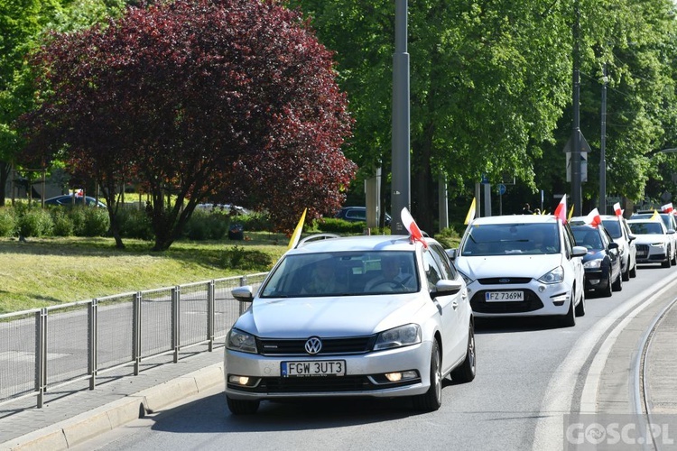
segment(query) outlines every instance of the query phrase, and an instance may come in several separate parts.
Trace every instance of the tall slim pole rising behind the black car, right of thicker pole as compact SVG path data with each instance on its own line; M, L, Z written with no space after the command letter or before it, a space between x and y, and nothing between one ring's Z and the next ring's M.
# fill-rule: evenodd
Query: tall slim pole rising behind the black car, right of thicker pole
M573 216L581 215L581 177L580 177L580 9L579 1L574 0L573 23L573 131L571 136L571 203Z

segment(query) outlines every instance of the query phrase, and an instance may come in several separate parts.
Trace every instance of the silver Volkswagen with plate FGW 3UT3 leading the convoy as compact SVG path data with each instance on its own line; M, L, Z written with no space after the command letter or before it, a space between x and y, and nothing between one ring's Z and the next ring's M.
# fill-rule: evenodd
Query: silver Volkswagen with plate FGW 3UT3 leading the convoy
M234 414L261 400L408 396L441 406L442 381L475 378L465 282L435 240L405 235L302 240L226 339L226 399Z

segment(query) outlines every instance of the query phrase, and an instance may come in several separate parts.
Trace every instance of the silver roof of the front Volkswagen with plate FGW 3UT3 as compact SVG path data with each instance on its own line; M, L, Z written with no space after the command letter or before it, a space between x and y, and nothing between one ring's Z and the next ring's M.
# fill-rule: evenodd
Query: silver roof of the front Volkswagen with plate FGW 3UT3
M436 243L431 238L424 238L428 243ZM328 253L341 251L413 251L409 235L355 235L318 239L299 244L287 252L295 253Z

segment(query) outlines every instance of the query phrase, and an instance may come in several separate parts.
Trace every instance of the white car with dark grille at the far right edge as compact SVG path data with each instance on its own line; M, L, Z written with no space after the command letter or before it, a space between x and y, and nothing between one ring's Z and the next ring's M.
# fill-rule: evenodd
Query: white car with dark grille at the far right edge
M633 219L627 221L630 232L635 235L637 263L661 263L663 268L672 266L672 235L663 221L654 219Z

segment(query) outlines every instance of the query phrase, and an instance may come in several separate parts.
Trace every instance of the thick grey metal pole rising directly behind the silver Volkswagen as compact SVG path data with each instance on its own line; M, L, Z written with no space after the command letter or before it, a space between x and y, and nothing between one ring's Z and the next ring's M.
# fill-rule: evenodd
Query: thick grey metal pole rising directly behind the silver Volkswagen
M409 53L407 53L407 1L395 0L393 56L393 192L391 233L406 235L403 207L411 209L409 156Z

